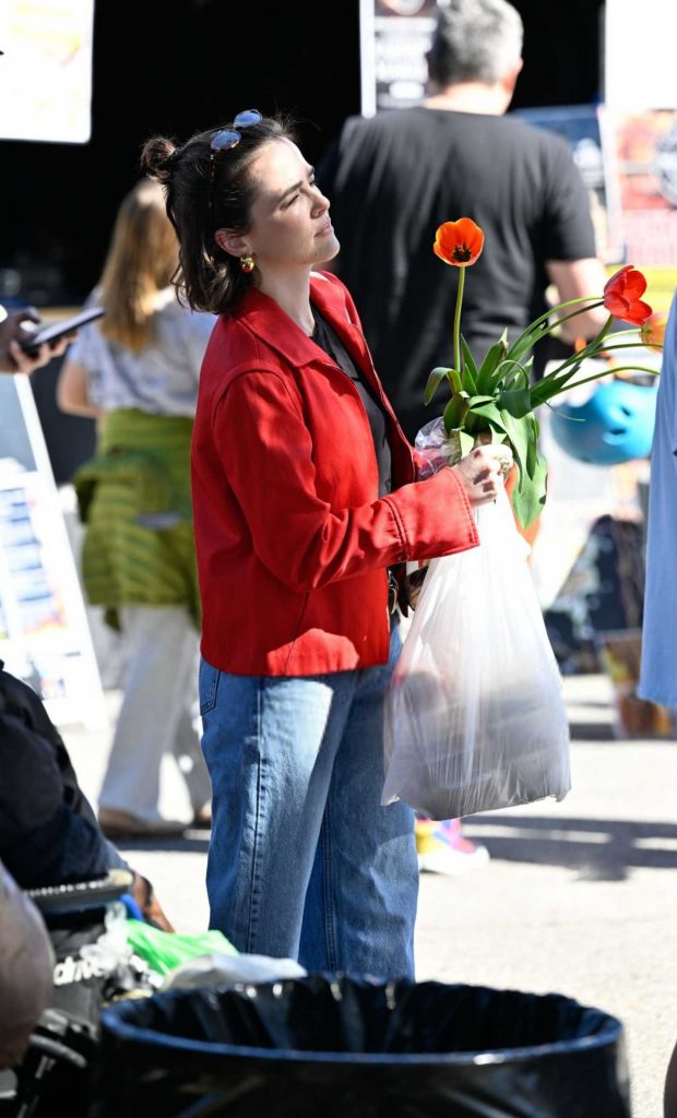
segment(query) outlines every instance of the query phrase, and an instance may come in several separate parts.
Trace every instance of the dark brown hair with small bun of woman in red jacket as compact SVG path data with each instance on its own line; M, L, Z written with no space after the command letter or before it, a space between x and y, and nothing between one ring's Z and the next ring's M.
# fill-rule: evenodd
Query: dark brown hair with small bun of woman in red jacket
M290 121L264 116L257 124L238 129L237 145L215 152L211 159L211 138L218 131L198 132L178 148L164 136L154 136L141 153L147 174L164 187L167 214L179 238L175 276L179 294L194 310L213 314L229 311L255 283L255 273L245 274L237 257L216 244L214 234L250 229L254 157L275 140L295 141Z

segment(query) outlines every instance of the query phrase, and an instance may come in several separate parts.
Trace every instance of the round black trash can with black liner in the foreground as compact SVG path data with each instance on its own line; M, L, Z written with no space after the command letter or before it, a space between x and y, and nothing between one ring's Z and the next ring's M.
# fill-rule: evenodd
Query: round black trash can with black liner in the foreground
M102 1015L91 1118L629 1118L621 1023L558 994L311 975Z

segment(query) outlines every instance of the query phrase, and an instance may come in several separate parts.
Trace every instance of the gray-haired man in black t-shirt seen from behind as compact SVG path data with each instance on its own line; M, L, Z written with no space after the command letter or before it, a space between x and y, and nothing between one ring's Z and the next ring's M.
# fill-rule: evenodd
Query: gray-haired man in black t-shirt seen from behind
M467 277L461 331L476 358L557 300L601 292L585 187L565 142L506 116L521 69L506 0L451 0L426 56L421 106L349 119L318 168L376 370L410 439L434 418L427 375L452 360L458 269L433 255L443 221L470 217L485 248ZM575 320L593 337L605 314ZM573 341L573 335L570 338Z

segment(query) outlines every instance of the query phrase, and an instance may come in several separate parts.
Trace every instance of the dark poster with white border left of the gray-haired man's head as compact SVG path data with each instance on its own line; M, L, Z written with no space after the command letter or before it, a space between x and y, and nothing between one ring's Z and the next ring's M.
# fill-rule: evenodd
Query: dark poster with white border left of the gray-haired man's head
M360 0L361 113L417 105L436 0Z

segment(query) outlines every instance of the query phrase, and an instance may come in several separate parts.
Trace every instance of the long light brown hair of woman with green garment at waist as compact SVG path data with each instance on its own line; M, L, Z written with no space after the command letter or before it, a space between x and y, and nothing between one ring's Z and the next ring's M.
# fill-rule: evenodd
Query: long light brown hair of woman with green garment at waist
M101 332L139 352L150 341L158 293L179 263L179 245L157 182L143 179L124 198L101 277Z

